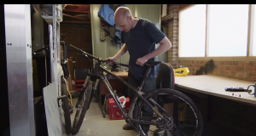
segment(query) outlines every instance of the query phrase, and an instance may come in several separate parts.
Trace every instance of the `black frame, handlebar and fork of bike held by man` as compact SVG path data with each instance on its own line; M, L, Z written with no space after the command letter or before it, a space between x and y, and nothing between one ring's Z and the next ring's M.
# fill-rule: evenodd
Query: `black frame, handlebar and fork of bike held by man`
M71 46L72 46L72 45L71 45ZM72 46L72 47L73 47L73 46ZM75 48L75 47L73 47L73 48ZM160 112L157 111L157 110L154 108L154 106L150 105L150 103L148 102L147 99L144 99L144 98L143 98L143 94L144 94L144 93L141 91L142 88L143 88L144 80L145 80L146 77L148 77L148 73L149 73L149 71L151 71L151 69L152 69L151 66L148 65L148 69L147 69L147 71L144 72L143 80L141 81L140 86L136 88L136 87L132 86L129 82L126 82L126 81L125 81L124 79L122 79L121 77L116 76L113 72L108 71L107 69L105 69L105 68L102 66L102 63L106 62L106 60L104 61L104 60L102 60L102 59L100 59L100 58L97 58L97 57L95 57L95 56L93 56L93 55L91 55L91 54L88 54L88 53L86 53L86 52L80 50L79 48L76 48L76 49L78 49L79 51L83 52L83 54L82 54L83 56L85 56L85 57L90 56L90 57L92 57L93 59L96 59L96 60L97 60L96 65L95 65L93 71L88 72L88 75L87 75L87 77L86 77L86 79L85 79L85 81L84 81L84 85L83 85L83 88L82 88L82 92L81 92L81 94L80 94L80 96L79 96L79 99L82 99L82 98L83 98L84 93L85 93L85 90L86 90L86 88L87 88L87 83L91 83L91 82L90 82L90 80L91 80L90 78L96 78L95 86L94 86L94 88L92 88L92 93L91 93L91 96L90 96L90 100L91 100L92 97L93 97L94 92L96 91L98 82L99 82L99 80L101 79L102 82L104 82L104 84L105 84L106 87L108 88L109 93L112 95L113 100L115 101L116 105L117 105L118 108L119 108L119 111L121 111L122 115L124 116L125 121L128 122L132 127L134 127L137 132L139 132L139 131L138 131L137 127L135 127L135 126L133 125L133 123L139 123L139 124L145 124L145 125L155 125L155 126L159 125L159 124L157 124L156 122L140 121L140 120L135 120L135 119L133 119L133 111L134 111L135 104L136 104L136 101L137 101L138 98L139 98L139 99L142 99L143 102L144 102L146 105L150 106L151 109L152 109L158 116L160 116L161 119L164 118L164 117L160 114ZM121 63L118 63L118 65L123 65L123 66L128 67L128 65L121 64ZM131 107L130 107L130 110L128 111L128 113L127 113L127 111L125 111L124 108L122 108L122 106L121 106L121 104L120 104L120 102L119 102L119 99L118 99L117 94L115 94L115 93L113 92L113 88L111 87L110 83L108 82L108 78L103 74L103 72L106 72L106 73L107 73L107 77L108 77L109 75L112 76L113 78L119 80L119 82L124 83L127 87L131 88L131 90L136 93L135 98L134 98L134 99L132 100L132 102L131 102ZM92 81L92 82L94 82L94 81ZM154 99L149 99L149 100L150 100L152 103L154 103L154 105L158 106L158 108L160 108L161 111L166 112L160 105L157 105L157 103L154 101ZM77 105L78 105L79 103L80 103L80 100L78 100ZM77 107L77 105L76 105L76 107ZM90 103L89 103L89 105L90 105ZM167 113L167 112L166 112L166 113Z

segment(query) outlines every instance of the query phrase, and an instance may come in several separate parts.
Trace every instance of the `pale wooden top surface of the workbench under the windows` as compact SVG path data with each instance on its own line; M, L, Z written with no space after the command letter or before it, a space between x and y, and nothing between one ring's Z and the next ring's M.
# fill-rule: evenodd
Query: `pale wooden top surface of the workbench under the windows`
M177 87L188 88L189 90L202 94L211 94L225 99L234 99L256 105L256 97L254 97L254 95L250 95L247 92L229 92L224 90L224 88L247 88L249 85L253 85L254 82L233 79L230 77L200 75L175 77L175 84ZM251 89L254 88L251 87ZM239 95L241 96L239 97Z

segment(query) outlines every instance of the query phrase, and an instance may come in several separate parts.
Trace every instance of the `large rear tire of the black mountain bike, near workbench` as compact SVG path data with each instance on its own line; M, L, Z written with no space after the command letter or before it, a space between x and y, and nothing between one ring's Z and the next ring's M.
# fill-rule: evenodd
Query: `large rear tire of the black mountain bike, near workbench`
M153 92L150 92L150 93L148 93L148 94L145 94L144 96L143 96L143 98L144 99L149 99L149 98L151 98L151 97L153 97L153 96L159 96L158 98L161 98L161 96L160 96L160 94L161 94L161 96L163 96L162 94L169 94L170 96L172 96L172 97L176 97L177 99L179 99L179 100L183 100L183 102L185 102L185 103L183 103L183 104L185 104L185 105L189 105L188 107L189 108L191 108L191 111L193 111L194 112L194 114L195 114L195 133L194 134L191 134L191 136L193 135L193 136L201 136L201 133L202 133L202 131L203 131L203 119L202 119L202 116L201 116L201 112L198 110L198 108L197 108L197 106L195 105L195 103L194 103L194 101L192 100L192 99L190 99L187 95L185 95L185 94L183 94L183 93L181 93L181 92L179 92L179 91L177 91L177 90L174 90L174 89L171 89L171 88L159 88L159 89L156 89L156 90L154 90ZM140 116L141 116L141 110L142 110L142 107L143 107L143 104L144 104L144 102L143 102L143 100L141 100L141 99L138 99L138 101L137 101L137 105L136 105L136 107L135 107L135 110L134 110L134 119L139 119L140 118ZM161 104L159 104L159 105L161 105ZM162 104L163 105L163 104ZM161 106L161 107L163 107L163 106ZM178 109L179 110L179 109ZM177 111L178 111L177 110ZM169 113L168 113L168 115L170 115ZM193 114L191 114L191 115L193 115ZM155 115L154 115L155 116ZM141 118L143 118L143 117L141 117ZM140 118L140 119L141 119ZM173 120L174 121L174 120ZM178 125L180 125L180 126L186 126L186 124L184 123L185 121L183 121L183 124L181 123L181 124L179 124L179 121L178 121L178 123L175 123L177 120L175 120L174 122L173 122L173 126L175 126L175 128L174 127L172 127L172 128L174 128L174 129L179 129L179 128L181 128L181 129L179 129L179 130L182 130L183 129L183 127L177 127ZM152 122L152 120L150 121L150 122ZM190 122L190 121L189 121ZM135 126L138 128L138 130L139 131L141 131L141 132L143 132L143 129L142 129L142 127L141 127L141 125L140 124L138 124L138 123L136 123L135 124ZM189 126L189 125L187 125L187 126ZM176 128L177 127L177 128ZM150 127L149 127L150 128ZM158 128L159 129L159 128ZM172 131L172 133L177 133L177 135L180 135L180 133L183 133L183 132L181 132L181 131L177 131L177 130L171 130ZM162 129L162 130L164 130L164 129ZM184 130L184 129L183 129ZM168 130L168 131L170 131L170 129ZM175 132L176 131L176 132ZM149 131L148 131L149 132ZM170 133L170 132L168 132L168 133ZM148 134L148 133L147 133ZM158 135L167 135L167 133L165 132L165 134L159 134L159 133L154 133L153 134L154 136L158 136ZM173 135L175 135L175 134L173 134ZM183 134L182 134L183 135Z

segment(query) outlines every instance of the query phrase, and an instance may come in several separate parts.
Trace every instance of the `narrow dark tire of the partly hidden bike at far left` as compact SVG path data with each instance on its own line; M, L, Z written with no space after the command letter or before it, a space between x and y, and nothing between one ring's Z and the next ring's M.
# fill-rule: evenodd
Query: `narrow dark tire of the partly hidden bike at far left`
M67 96L67 85L61 84L61 94ZM62 110L64 111L64 118L65 118L65 126L66 126L66 133L71 134L71 118L70 118L70 111L69 111L69 103L68 99L62 99Z

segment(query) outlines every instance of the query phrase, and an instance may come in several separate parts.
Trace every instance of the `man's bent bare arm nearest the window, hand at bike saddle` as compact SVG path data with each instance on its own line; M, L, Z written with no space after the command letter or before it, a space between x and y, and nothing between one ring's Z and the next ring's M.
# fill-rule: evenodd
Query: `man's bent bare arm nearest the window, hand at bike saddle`
M172 48L172 43L169 41L167 37L164 37L159 43L160 43L159 48L156 48L153 52L143 56L142 58L137 59L136 64L143 66L144 63L148 61L148 59L151 59L151 58L154 58L155 56L163 54L169 48Z

